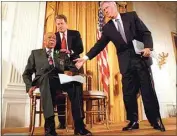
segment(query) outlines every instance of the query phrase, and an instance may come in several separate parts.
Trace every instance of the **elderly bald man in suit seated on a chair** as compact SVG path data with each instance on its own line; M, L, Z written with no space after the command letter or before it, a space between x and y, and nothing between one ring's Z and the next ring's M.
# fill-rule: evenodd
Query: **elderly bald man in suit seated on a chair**
M76 124L75 133L91 135L91 132L85 129L83 123L82 92L77 89L77 86L74 86L73 82L60 84L58 73L63 73L63 63L60 63L60 54L54 52L56 46L56 35L54 33L47 33L44 36L44 46L44 49L37 49L31 52L23 73L23 80L30 97L35 88L40 88L45 118L45 135L57 135L54 122L54 105L56 104L56 92L60 90L66 91L71 101L72 116ZM33 73L35 74L34 80L32 80Z

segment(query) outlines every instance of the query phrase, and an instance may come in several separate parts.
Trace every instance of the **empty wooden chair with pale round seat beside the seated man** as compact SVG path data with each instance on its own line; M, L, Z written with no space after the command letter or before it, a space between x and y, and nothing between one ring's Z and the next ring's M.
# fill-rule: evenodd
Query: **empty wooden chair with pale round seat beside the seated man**
M91 90L92 89L92 73L86 74L86 90L83 91L83 100L86 101L86 117L89 117L91 128L93 127L95 115L103 116L103 121L108 124L108 102L107 95L103 91ZM89 107L90 106L90 107Z

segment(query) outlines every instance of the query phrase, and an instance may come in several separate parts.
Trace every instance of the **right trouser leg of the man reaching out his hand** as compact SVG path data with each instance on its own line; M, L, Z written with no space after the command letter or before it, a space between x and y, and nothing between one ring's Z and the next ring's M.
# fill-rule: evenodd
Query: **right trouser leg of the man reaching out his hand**
M153 124L156 122L160 113L158 99L152 84L149 69L147 67L143 67L140 63L139 66L137 66L137 72L140 79L141 95L146 117L149 122Z

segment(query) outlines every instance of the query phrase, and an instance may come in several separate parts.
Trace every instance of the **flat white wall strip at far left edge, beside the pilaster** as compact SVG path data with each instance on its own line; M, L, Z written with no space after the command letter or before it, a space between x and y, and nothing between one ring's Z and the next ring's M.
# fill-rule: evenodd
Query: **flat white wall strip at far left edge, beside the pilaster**
M10 42L12 40L16 2L2 2L2 94L10 73Z

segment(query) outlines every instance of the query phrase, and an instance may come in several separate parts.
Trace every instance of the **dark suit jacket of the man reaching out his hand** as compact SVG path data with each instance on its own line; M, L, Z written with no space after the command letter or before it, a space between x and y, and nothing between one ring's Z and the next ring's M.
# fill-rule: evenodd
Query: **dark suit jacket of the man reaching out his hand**
M116 47L117 55L119 58L120 72L126 72L129 60L135 54L132 40L136 39L144 43L145 48L153 48L151 32L137 16L136 12L127 12L120 14L124 26L127 43L124 42L121 34L117 31L114 22L110 20L103 27L103 32L100 40L94 45L93 48L86 54L89 59L94 58L100 51L102 51L109 41L112 41ZM148 60L149 58L144 58Z

